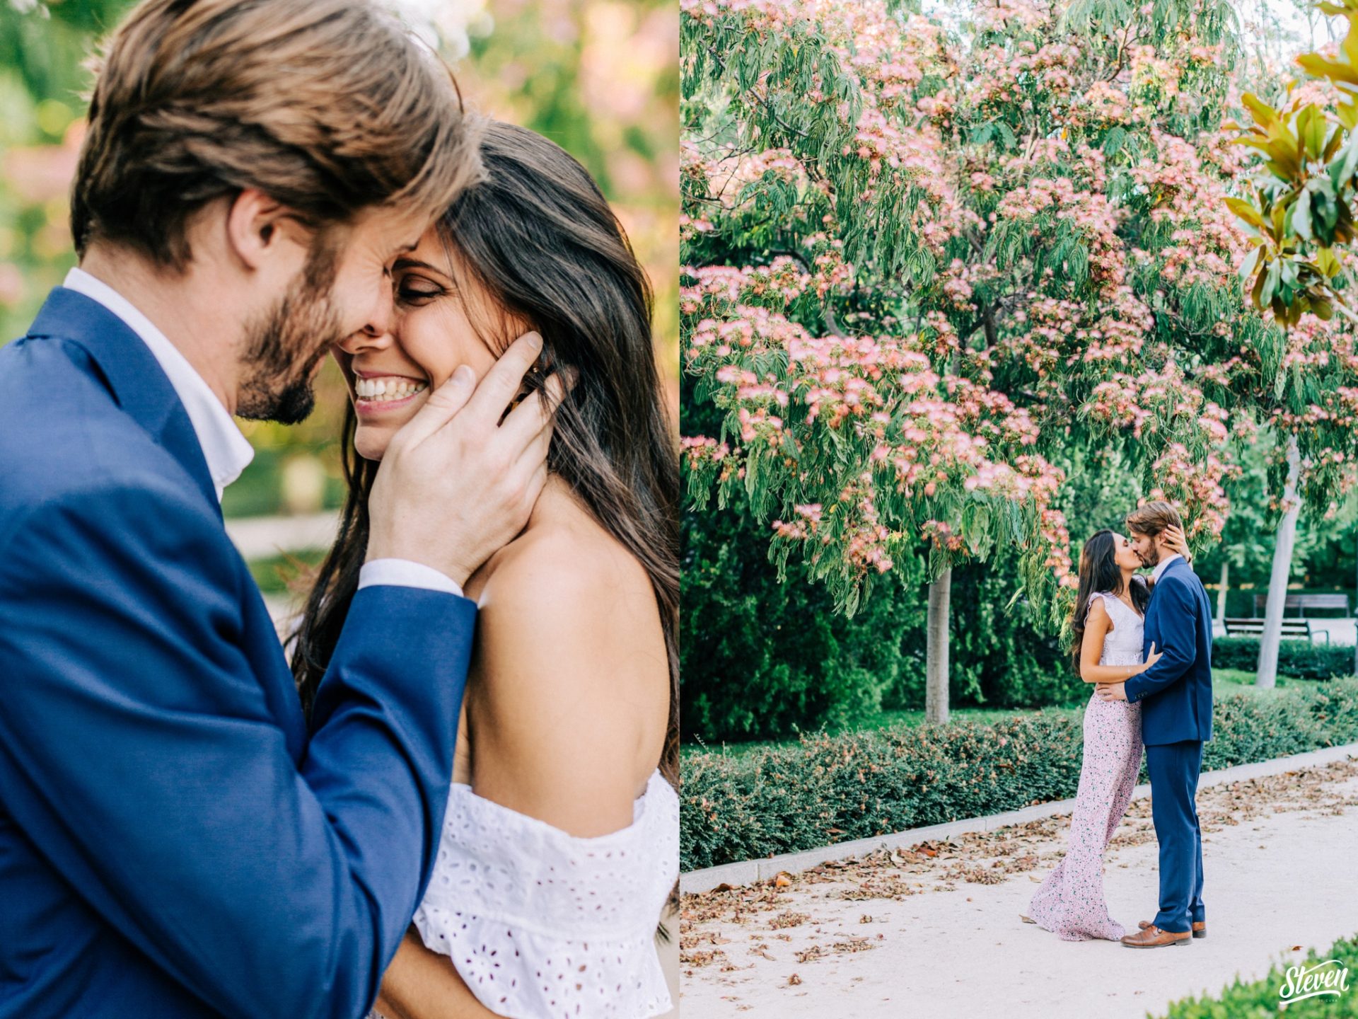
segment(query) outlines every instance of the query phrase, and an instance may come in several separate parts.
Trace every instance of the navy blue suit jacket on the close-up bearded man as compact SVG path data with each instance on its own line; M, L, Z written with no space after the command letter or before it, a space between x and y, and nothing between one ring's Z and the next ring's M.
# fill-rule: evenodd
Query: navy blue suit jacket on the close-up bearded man
M475 606L356 595L310 726L151 351L0 348L0 1016L334 1016L424 893Z

